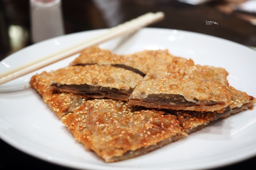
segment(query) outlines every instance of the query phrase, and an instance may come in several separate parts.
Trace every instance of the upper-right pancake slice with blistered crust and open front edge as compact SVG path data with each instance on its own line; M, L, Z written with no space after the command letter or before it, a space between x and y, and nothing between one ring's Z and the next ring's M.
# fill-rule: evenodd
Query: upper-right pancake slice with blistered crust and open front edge
M218 111L228 107L228 72L222 68L195 65L174 57L173 62L151 69L141 80L129 104L149 108Z

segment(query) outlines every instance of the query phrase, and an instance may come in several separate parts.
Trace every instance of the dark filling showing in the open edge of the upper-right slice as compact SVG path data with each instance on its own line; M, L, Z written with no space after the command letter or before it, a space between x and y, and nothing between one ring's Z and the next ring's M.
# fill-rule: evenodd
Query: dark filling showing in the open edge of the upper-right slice
M130 99L133 99L132 96ZM134 99L136 100L136 99ZM138 99L139 100L139 99ZM179 94L149 94L148 97L144 98L143 101L149 102L149 103L155 103L159 105L164 106L194 106L199 105L198 100L194 98L195 102L188 101L184 98L184 96ZM214 105L218 102L212 101L212 100L204 100L200 101L200 104L203 105Z

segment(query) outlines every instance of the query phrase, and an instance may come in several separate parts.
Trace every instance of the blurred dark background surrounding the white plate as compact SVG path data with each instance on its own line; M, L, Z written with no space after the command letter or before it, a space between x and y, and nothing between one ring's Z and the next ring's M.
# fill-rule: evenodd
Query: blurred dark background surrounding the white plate
M47 4L53 0L33 1ZM54 18L47 19L38 13L39 18L32 19L35 15L32 16L33 10L29 0L0 0L0 61L15 51L43 41L44 38L109 28L147 12L157 11L163 11L165 19L149 27L204 33L256 47L256 0L59 0L59 2L60 13L55 10L54 15L60 14L60 18L55 18L56 22L54 22ZM48 26L45 22L50 20L53 25L46 28L48 32L44 32L43 29ZM206 21L212 21L213 24L207 24ZM36 26L33 25L35 22L37 26L39 24L40 30L35 30ZM59 24L56 25L57 23ZM59 31L56 33L56 30ZM38 35L44 36L37 37ZM34 165L44 169L68 169L24 154L1 139L0 149L4 153L4 159L0 160L0 169L18 167L33 169ZM248 167L254 165L255 159L222 169ZM15 160L15 163L10 164L9 160ZM30 164L31 162L33 164Z

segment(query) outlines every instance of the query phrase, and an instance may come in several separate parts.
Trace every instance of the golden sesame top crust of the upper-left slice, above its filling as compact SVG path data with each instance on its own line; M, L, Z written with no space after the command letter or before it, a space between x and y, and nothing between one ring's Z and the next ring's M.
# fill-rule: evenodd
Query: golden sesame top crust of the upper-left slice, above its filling
M143 77L123 68L111 65L86 65L65 67L55 71L52 83L66 85L93 85L116 89L134 88Z

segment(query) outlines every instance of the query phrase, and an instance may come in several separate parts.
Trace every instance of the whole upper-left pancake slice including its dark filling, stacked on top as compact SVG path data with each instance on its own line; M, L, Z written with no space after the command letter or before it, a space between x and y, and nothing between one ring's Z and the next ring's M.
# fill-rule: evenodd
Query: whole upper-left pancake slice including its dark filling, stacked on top
M69 66L54 74L50 86L57 91L116 100L128 100L137 82L143 78L131 70L97 64Z

